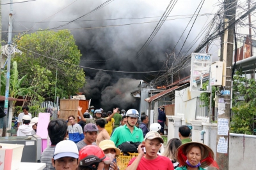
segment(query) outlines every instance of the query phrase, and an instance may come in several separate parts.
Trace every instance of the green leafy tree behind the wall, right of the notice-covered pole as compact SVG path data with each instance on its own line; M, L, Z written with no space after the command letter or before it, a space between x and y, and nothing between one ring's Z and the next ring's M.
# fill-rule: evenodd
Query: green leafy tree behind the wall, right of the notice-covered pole
M239 95L237 95L239 94ZM256 82L237 71L233 79L232 121L230 132L253 134L256 127ZM243 97L243 99L241 99ZM255 133L254 133L255 134Z

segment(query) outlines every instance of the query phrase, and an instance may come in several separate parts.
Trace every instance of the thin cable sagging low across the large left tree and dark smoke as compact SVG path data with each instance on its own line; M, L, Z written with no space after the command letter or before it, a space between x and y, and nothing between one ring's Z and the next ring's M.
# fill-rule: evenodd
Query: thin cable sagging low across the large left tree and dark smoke
M18 45L16 45L16 46L18 46ZM64 64L69 64L69 65L72 65L72 66L82 67L82 68L85 68L85 69L93 69L93 70L97 70L97 71L107 71L107 72L115 72L115 73L157 73L157 72L165 72L163 70L158 70L158 71L115 71L115 70L107 70L107 69L96 69L96 68L92 68L92 67L79 66L77 64L68 63L68 62L65 62L63 60L53 59L52 57L42 55L42 54L37 53L37 52L33 52L33 51L28 50L27 48L24 48L22 46L19 46L19 48L27 50L28 52L31 52L31 53L35 53L35 54L40 55L42 57L46 57L48 59L56 60L58 62L63 62Z

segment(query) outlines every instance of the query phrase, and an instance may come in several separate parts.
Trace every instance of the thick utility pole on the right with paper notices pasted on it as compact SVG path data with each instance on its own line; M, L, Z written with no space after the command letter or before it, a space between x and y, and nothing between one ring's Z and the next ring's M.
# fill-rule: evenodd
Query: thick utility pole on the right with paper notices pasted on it
M228 25L233 25L236 20L236 5L237 0L224 1L224 16L223 29ZM219 96L219 104L224 111L218 110L218 134L216 138L216 161L220 169L228 169L228 142L229 142L229 127L230 127L230 104L231 88L232 88L232 58L233 58L233 44L234 44L234 26L229 27L225 34L221 35L221 56L223 61L223 93ZM222 100L221 100L222 99ZM221 101L220 101L221 100ZM219 106L218 106L219 108Z

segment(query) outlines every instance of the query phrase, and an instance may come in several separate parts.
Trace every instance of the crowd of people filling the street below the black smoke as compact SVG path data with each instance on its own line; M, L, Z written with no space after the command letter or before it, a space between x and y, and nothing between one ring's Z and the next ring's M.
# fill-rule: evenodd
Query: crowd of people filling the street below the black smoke
M35 134L38 118L31 119L28 106L19 115L17 136ZM148 116L137 110L115 108L104 113L90 106L85 113L77 107L81 119L76 123L74 115L67 120L51 120L47 127L51 145L45 148L40 162L46 170L60 169L113 169L118 170L116 156L131 143L137 145L137 157L133 157L126 169L178 169L202 170L207 166L218 167L211 148L192 142L188 126L179 127L179 139L168 141L164 150L163 126L166 124L164 107L159 107L159 120L148 127ZM20 119L21 117L21 119ZM138 120L140 124L138 125ZM69 123L69 125L67 124ZM128 143L128 144L127 144Z

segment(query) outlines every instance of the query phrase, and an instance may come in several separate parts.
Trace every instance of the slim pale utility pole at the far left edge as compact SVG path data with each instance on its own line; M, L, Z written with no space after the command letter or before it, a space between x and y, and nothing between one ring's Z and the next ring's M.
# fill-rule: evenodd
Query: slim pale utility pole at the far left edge
M9 86L10 86L10 69L11 69L11 55L12 55L12 2L10 0L10 14L9 14L9 25L8 25L8 57L7 57L7 73L6 73L6 89L5 89L5 101L4 101L4 113L6 116L3 121L3 133L2 136L6 136L6 124L8 117L8 97L9 97Z

